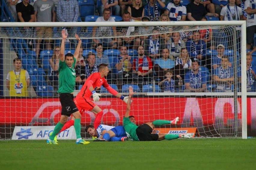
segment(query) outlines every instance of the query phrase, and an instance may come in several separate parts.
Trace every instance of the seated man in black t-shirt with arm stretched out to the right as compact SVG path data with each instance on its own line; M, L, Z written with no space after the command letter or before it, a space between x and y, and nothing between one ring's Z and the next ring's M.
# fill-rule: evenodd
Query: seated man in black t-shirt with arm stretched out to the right
M218 13L209 13L203 4L200 4L200 0L194 0L187 5L187 20L200 21L203 16L215 16L218 17Z

